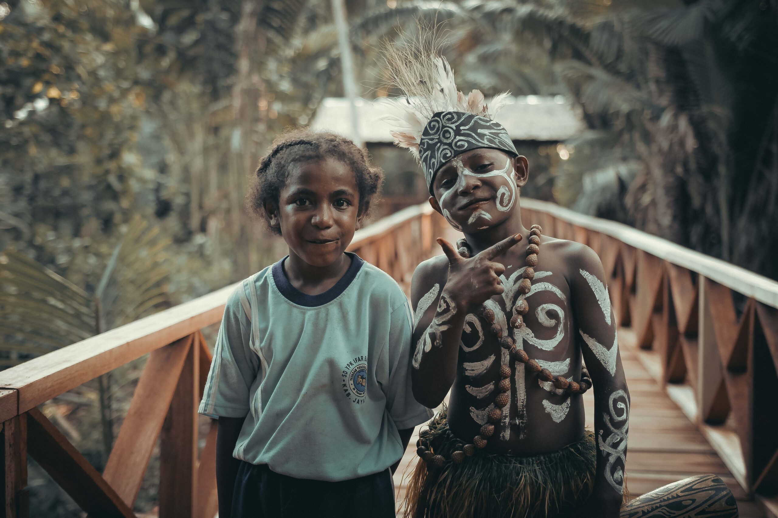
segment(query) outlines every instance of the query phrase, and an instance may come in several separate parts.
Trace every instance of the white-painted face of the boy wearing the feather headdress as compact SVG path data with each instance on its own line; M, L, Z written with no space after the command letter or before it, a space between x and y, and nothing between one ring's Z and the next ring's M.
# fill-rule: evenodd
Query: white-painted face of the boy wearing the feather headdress
M452 227L475 234L513 214L525 183L527 158L497 149L471 149L440 168L429 203Z

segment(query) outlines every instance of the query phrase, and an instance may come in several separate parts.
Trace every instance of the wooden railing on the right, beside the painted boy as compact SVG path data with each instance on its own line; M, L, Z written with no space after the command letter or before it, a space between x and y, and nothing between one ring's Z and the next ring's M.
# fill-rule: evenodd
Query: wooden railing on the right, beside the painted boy
M526 224L589 245L619 339L702 430L749 493L778 492L778 283L613 221L522 200Z

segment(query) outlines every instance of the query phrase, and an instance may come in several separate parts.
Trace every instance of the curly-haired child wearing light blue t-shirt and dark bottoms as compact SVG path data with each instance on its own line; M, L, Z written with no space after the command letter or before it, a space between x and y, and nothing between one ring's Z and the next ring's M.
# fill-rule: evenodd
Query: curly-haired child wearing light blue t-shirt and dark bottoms
M394 516L391 475L431 412L411 391L412 315L345 252L381 172L352 141L287 134L251 208L289 256L226 304L199 412L219 419L219 516Z

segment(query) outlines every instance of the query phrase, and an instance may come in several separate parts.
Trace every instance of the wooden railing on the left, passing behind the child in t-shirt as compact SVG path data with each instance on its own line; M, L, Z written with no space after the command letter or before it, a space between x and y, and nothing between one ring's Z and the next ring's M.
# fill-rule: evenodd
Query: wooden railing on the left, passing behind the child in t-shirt
M408 207L356 232L350 250L405 286L447 227L429 207ZM216 514L216 425L198 451L197 407L211 355L200 330L221 321L236 285L0 372L2 516L29 516L27 454L89 516L132 508L159 438L159 516ZM142 376L102 474L37 409L145 354Z

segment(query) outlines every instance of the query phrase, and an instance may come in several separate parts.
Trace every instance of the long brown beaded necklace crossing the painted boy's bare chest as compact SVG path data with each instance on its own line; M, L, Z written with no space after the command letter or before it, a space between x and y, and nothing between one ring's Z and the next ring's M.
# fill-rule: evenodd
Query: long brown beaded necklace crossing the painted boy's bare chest
M522 273L523 278L518 286L519 293L525 296L529 294L532 287L534 267L538 266L541 231L542 228L538 224L534 224L530 228L530 237L528 239L530 244L527 245L527 267L524 269L524 273ZM464 238L457 241L457 248L457 252L460 256L464 258L471 256L468 242L465 241ZM517 304L514 304L513 317L510 318L510 328L521 329L524 327L524 315L527 315L528 311L530 311L530 307L529 304L527 304L526 299L522 299L518 301ZM524 349L519 349L510 337L510 332L508 333L509 335L503 335L503 329L495 324L494 311L485 308L482 305L478 308L478 315L491 324L490 329L492 333L496 335L499 345L503 347L503 349L508 349L510 351L510 356L513 360L524 363L524 365L527 366L527 370L538 374L538 378L540 378L541 381L551 381L555 388L565 391L565 394L567 395L584 394L584 392L591 388L591 377L589 377L589 371L586 367L581 367L581 381L577 383L575 381L567 381L567 379L562 376L555 376L550 370L542 368L536 360L531 360ZM494 406L496 408L489 411L489 414L487 415L489 422L486 422L481 426L478 435L473 437L473 442L465 444L462 450L454 451L454 453L451 454L451 460L455 463L459 464L464 461L464 457L470 457L472 454L475 454L476 448L485 448L489 437L494 435L495 423L503 418L503 408L505 408L510 401L510 374L510 365L499 367L499 377L501 379L499 384L497 384L499 394L494 400ZM429 447L426 447L422 443L422 440L419 439L416 442L416 447L416 454L418 454L419 457L422 457L429 467L443 468L443 465L446 463L446 458L443 457L443 455L435 454L431 444Z

